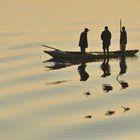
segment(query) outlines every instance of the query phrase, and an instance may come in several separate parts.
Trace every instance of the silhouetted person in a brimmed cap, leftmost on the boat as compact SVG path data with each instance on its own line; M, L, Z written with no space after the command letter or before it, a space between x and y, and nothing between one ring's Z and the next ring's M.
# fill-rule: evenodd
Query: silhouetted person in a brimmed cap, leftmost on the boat
M85 30L80 35L79 47L80 47L82 54L85 54L85 50L86 50L86 48L88 48L88 39L87 39L88 31L89 31L89 29L85 28Z

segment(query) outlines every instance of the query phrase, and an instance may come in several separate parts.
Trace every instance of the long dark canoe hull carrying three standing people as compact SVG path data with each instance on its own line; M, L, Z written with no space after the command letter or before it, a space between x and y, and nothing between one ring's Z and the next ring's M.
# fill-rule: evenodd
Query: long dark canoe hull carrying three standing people
M134 56L139 50L127 50L125 52L125 56ZM79 60L93 60L93 59L103 59L105 56L103 52L89 52L85 54L81 54L81 52L72 52L72 51L44 51L49 54L53 58L59 59L79 59ZM117 58L121 55L121 51L111 51L107 57L109 58Z

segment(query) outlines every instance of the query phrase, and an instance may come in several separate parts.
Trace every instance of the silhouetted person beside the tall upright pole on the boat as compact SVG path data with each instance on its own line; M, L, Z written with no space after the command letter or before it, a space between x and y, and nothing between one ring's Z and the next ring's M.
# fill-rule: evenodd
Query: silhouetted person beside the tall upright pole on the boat
M122 30L120 31L120 50L122 53L125 53L125 48L127 44L127 32L125 31L125 27L122 27Z

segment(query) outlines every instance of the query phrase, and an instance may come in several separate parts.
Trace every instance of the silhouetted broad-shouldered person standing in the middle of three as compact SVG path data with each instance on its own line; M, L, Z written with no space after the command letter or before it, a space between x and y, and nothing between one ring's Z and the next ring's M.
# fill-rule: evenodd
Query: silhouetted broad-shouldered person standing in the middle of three
M103 41L104 55L106 51L107 51L107 54L109 54L109 46L111 43L111 32L108 30L107 26L105 26L105 30L101 33L101 39Z

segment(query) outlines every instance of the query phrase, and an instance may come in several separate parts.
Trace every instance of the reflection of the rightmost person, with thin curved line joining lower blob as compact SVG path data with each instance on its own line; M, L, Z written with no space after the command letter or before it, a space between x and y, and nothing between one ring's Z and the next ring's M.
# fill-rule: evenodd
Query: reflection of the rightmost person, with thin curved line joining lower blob
M117 76L117 81L120 83L122 89L127 88L129 85L127 82L123 81L123 80L119 80L119 76L122 74L125 74L127 71L127 65L126 65L126 61L125 61L125 55L121 55L120 57L120 72Z

